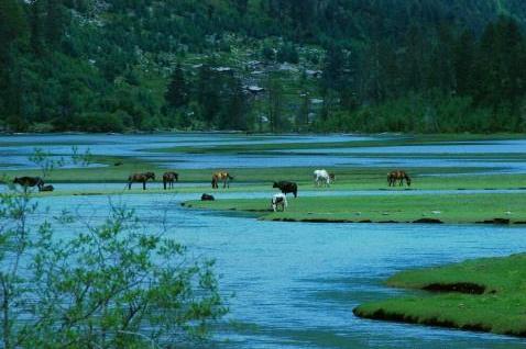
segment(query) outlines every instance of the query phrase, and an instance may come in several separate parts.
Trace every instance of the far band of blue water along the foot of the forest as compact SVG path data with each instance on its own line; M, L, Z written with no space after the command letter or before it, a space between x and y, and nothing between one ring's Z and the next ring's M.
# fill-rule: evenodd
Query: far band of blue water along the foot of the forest
M0 169L34 168L28 156L35 147L56 154L70 154L72 145L80 153L118 155L153 161L179 169L246 167L456 167L480 168L484 172L526 173L526 139L441 143L396 147L320 149L319 143L402 138L402 136L284 135L244 136L240 134L153 134L153 135L17 135L0 136ZM307 149L278 151L240 151L239 154L164 153L161 148L180 146L251 145L303 143ZM463 158L459 159L458 156ZM481 158L483 156L483 158ZM517 158L507 158L514 156ZM70 165L74 167L74 165Z

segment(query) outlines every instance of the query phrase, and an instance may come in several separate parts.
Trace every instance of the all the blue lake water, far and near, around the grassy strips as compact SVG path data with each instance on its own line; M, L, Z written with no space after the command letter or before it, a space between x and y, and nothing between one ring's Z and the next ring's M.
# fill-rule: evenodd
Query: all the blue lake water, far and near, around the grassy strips
M475 161L485 171L526 172L523 161L498 159L500 154L523 154L525 140L508 143L439 146L407 146L385 149L316 150L316 143L371 139L351 135L244 137L221 134L186 135L23 135L0 137L0 166L30 168L26 160L33 147L67 155L75 144L80 151L90 148L100 155L125 155L179 168L245 166L385 166L404 164L420 166L424 158L381 155L435 154L434 167L452 164L471 167ZM144 149L167 146L309 143L311 149L291 154L249 155L155 154ZM459 148L460 147L460 148ZM415 151L413 153L412 149ZM462 151L462 149L467 149ZM321 151L322 150L322 151ZM495 151L492 151L495 150ZM509 150L509 151L508 151ZM317 154L318 153L318 154ZM495 161L480 161L481 154L493 153ZM451 155L448 158L448 154ZM467 154L467 160L453 155ZM469 156L472 156L470 159ZM406 162L399 162L402 159ZM502 161L498 161L502 160ZM357 162L359 161L359 162ZM454 165L457 166L457 165ZM67 185L61 184L61 190ZM123 183L83 184L84 189L123 189ZM208 187L209 184L206 183ZM402 191L396 194L425 193ZM457 192L457 191L454 191ZM460 191L459 193L470 193ZM484 192L484 191L475 191ZM493 191L497 192L497 191ZM514 191L516 192L516 191ZM386 192L353 192L363 196ZM270 193L251 193L267 196ZM305 192L316 195L316 192ZM348 193L335 193L348 194ZM222 193L219 198L246 198L243 193ZM180 206L196 194L149 194L113 196L112 202L135 209L155 226L167 210L169 235L189 246L193 256L217 260L221 292L227 296L230 313L218 328L218 348L524 348L526 340L490 334L448 330L443 328L372 322L357 318L352 308L371 300L380 300L403 291L385 288L382 281L407 268L437 266L468 258L506 256L526 249L524 227L482 225L382 225L382 224L306 224L261 222L246 215L193 211ZM105 196L50 196L39 199L41 218L59 215L63 209L75 210L91 223L100 222L109 209ZM63 237L74 234L59 229ZM233 294L232 297L229 295ZM209 345L205 345L206 348Z

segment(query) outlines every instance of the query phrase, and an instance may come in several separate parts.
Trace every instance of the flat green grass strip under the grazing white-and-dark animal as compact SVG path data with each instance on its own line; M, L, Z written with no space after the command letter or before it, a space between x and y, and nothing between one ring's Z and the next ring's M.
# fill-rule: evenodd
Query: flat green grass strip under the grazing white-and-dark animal
M271 195L269 196L271 198ZM285 212L270 212L270 199L190 201L194 209L257 212L261 219L298 222L526 222L526 192L291 198ZM497 221L495 221L497 222ZM426 222L421 222L426 223Z

